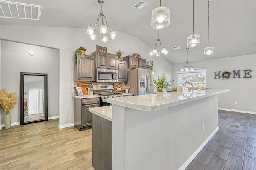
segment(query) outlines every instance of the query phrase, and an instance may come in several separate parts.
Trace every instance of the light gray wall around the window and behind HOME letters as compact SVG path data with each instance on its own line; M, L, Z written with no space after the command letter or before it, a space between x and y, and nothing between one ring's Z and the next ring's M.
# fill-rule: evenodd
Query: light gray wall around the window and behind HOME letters
M184 65L185 62L173 64L174 79L177 79L177 70ZM194 68L206 68L207 87L230 89L230 92L219 95L218 107L256 113L256 54L191 62L189 65ZM252 78L242 78L245 69L252 70ZM233 70L240 70L241 78L214 79L214 71L224 70L232 72L232 77ZM238 104L235 105L235 102Z

